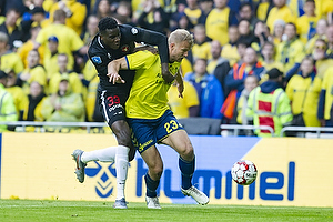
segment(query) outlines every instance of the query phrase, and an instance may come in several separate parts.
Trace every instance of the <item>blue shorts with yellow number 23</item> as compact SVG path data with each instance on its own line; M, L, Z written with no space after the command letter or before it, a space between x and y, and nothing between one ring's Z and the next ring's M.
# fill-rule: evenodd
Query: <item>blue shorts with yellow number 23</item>
M172 132L183 130L171 110L167 110L162 117L152 120L129 118L128 123L132 129L132 142L139 153L161 142Z

